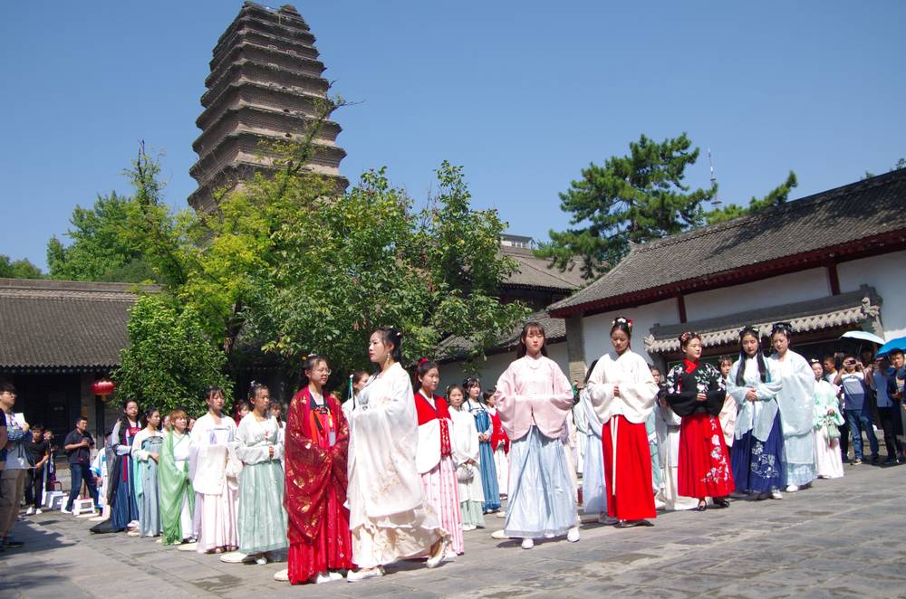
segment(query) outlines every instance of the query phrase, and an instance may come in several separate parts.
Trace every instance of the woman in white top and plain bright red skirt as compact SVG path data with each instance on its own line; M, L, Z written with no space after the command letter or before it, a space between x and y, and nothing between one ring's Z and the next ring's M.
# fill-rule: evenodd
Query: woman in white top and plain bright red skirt
M603 423L607 515L618 518L620 527L651 526L645 518L657 516L645 422L654 409L658 385L648 363L630 349L631 332L630 319L613 321L613 351L598 360L588 380L594 411Z

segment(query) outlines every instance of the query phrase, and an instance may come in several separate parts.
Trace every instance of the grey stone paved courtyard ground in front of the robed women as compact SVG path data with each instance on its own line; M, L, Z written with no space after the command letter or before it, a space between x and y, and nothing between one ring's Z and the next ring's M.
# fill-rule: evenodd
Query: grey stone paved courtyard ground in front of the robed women
M586 523L576 544L525 551L468 532L466 555L436 570L404 563L382 579L318 587L276 583L278 564L222 564L44 513L16 525L25 549L0 553L0 596L906 596L904 490L906 466L847 467L842 480L780 501L664 514L653 528ZM488 518L492 529L502 521Z

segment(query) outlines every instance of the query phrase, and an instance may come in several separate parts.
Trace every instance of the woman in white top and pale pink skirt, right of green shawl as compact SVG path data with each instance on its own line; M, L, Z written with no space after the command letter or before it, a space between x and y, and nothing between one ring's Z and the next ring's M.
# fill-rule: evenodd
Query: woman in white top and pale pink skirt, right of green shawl
M198 553L239 547L236 506L241 463L236 458L236 421L222 413L224 396L207 390L207 414L192 427L189 477L195 489Z

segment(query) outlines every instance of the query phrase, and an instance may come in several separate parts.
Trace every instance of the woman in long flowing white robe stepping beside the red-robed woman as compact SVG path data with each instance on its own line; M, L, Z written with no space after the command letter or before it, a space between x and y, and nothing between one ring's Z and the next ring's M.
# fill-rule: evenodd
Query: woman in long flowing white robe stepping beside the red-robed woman
M357 398L349 442L347 503L355 582L384 574L382 566L406 557L443 560L448 534L425 501L416 467L419 419L410 376L400 366L402 334L381 327L371 334L368 354L381 365Z

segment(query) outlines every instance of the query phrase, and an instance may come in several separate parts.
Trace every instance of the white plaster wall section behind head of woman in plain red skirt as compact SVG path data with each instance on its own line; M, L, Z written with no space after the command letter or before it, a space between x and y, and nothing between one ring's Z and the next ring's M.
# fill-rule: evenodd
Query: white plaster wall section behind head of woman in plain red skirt
M632 350L651 362L645 351L644 339L651 334L654 323L674 325L679 323L679 313L675 299L664 299L639 308L622 309L618 312L605 312L583 319L585 341L585 363L591 365L594 360L609 352L611 345L611 325L618 316L632 319Z

